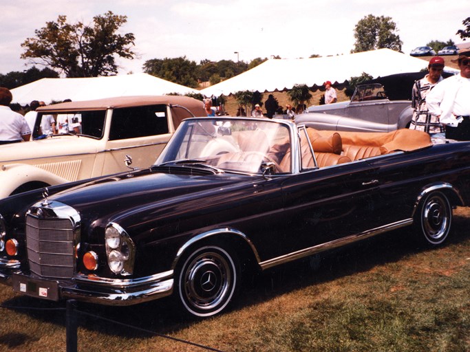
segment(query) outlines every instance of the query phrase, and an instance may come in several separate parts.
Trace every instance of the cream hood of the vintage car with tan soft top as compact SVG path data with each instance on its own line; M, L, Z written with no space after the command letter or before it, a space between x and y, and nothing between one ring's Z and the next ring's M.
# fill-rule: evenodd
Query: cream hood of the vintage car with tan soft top
M0 162L21 162L25 159L96 153L98 143L98 140L90 137L57 135L43 140L3 144L0 146ZM32 151L34 151L34 156Z

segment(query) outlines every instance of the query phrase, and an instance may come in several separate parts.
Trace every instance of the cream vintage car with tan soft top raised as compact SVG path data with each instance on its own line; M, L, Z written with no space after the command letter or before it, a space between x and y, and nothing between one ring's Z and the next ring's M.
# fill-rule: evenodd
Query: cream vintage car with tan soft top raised
M30 142L0 146L0 198L64 182L146 167L184 119L205 116L186 96L131 96L64 102L37 109ZM43 115L81 118L81 133L43 136Z

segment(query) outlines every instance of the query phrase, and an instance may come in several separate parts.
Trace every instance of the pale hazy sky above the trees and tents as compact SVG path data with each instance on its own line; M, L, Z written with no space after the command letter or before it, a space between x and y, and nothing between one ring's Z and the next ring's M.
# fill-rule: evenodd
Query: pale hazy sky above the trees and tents
M249 63L348 54L368 14L391 17L409 54L434 40L463 43L456 32L470 17L468 0L0 0L0 74L32 67L20 58L21 43L46 22L65 15L68 23L92 23L107 11L127 16L120 33L136 37L138 57L118 59L119 74L143 72L153 58Z

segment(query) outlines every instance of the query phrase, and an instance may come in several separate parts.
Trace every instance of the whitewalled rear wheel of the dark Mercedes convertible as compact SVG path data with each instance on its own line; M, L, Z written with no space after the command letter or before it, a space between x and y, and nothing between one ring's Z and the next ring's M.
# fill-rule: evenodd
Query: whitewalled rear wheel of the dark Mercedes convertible
M442 192L431 192L420 203L416 212L418 239L427 245L440 245L451 230L452 208Z

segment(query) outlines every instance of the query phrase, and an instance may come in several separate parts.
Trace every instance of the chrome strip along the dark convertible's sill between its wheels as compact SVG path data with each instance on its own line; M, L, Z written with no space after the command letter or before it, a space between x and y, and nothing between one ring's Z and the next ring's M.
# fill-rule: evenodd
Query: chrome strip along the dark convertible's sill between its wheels
M269 259L268 261L263 261L259 263L259 265L261 266L262 270L266 270L275 265L280 265L280 264L288 263L289 261L301 259L304 256L310 256L312 254L323 252L325 250L332 250L334 248L341 247L342 245L347 245L350 243L354 243L356 241L360 241L362 239L367 239L369 237L375 236L376 234L381 234L383 232L388 232L390 230L403 228L407 225L411 225L412 223L413 223L413 219L405 219L402 221L397 221L396 223L391 223L389 225L381 226L379 228L367 230L365 232L361 232L360 234L353 234L351 236L343 237L342 239L336 239L334 241L321 243L319 245L314 245L313 247L305 248L297 252L285 254L284 256L278 256L277 258Z

